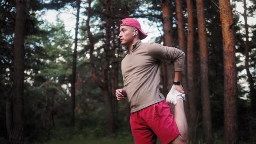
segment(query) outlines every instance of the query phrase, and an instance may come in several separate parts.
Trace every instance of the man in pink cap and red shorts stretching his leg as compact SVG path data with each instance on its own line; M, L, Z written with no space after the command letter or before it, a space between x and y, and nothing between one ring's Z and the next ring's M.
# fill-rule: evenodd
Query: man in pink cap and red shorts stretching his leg
M136 144L187 144L184 91L180 85L185 54L179 49L157 43L142 43L148 35L138 20L121 20L119 38L128 54L121 62L124 88L116 90L117 100L128 97L131 131ZM159 91L161 60L174 60L174 86L167 101ZM169 99L169 100L168 100ZM175 119L168 103L175 105Z

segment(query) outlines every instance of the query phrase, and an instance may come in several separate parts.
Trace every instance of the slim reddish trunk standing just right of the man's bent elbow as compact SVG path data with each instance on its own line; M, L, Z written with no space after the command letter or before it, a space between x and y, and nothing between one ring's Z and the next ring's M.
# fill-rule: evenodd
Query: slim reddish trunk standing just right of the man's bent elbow
M195 96L195 85L194 85L194 20L193 20L193 3L192 0L187 0L187 83L189 84L188 89L188 103L190 107L190 118L189 118L189 137L190 140L196 139L197 132L197 105Z

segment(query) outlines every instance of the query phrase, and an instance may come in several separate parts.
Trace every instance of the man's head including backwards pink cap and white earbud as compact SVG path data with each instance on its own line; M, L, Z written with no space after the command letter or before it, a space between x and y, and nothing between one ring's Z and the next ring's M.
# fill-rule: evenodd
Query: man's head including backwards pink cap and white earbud
M148 35L141 30L141 25L138 20L133 18L125 18L121 20L119 38L121 44L128 46L137 39L144 39Z

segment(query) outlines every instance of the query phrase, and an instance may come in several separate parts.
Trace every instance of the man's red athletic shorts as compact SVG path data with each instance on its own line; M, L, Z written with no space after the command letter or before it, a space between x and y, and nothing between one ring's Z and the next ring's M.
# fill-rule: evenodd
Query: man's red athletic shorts
M131 113L130 124L135 144L168 144L180 134L166 100Z

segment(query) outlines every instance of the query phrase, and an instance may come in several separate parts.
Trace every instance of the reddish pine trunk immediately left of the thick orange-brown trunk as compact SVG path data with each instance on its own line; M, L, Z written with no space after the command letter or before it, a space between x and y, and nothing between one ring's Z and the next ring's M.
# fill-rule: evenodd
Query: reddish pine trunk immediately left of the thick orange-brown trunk
M203 111L203 134L207 144L211 144L211 107L208 78L208 50L207 34L204 16L204 0L197 0L197 22L198 22L198 39L200 45L200 79L201 79L201 96Z

